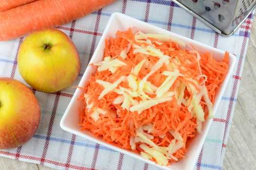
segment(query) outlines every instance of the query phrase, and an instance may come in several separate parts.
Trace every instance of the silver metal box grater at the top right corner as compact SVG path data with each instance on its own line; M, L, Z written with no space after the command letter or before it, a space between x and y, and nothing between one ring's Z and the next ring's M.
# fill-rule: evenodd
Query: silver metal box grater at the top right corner
M256 0L173 0L222 35L232 35L256 7Z

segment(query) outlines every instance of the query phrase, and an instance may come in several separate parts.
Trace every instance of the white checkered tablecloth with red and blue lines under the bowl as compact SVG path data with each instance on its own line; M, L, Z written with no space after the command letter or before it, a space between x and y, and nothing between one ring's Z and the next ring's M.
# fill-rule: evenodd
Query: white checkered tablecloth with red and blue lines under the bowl
M197 170L220 170L234 113L253 15L246 19L235 34L230 37L223 37L171 0L118 0L86 17L58 27L59 30L72 38L79 51L81 72L73 86L79 84L89 58L93 55L106 23L113 12L124 13L236 55L236 68L222 97L195 166ZM25 83L17 69L17 52L22 41L23 37L0 42L0 77L12 77ZM59 121L74 92L75 88L71 87L52 94L34 90L41 107L38 131L23 146L10 150L0 150L0 155L65 170L156 169L154 166L61 130Z

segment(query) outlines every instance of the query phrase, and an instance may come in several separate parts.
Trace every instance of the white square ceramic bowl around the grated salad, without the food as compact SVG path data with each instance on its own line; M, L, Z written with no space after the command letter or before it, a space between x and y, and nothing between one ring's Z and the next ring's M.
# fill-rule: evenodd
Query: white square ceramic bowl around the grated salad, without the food
M213 56L216 60L223 59L225 51L217 50L213 47L204 45L202 43L199 43L197 41L191 40L189 38L180 36L178 34L174 34L172 32L166 31L164 29L158 28L156 26L150 25L148 23L145 23L143 21L140 21L138 19L128 17L126 15L123 15L121 13L113 13L110 17L108 24L105 28L104 33L102 34L102 37L98 43L98 46L92 56L92 59L88 65L88 67L85 70L85 73L83 74L83 77L79 83L79 86L84 87L88 83L88 79L96 71L96 68L94 66L90 66L91 63L96 63L99 61L102 61L103 58L103 51L105 48L105 39L110 37L115 37L116 32L119 31L126 31L129 27L131 27L133 30L140 30L144 33L155 33L155 34L167 34L175 39L179 39L183 41L186 44L186 49L191 49L190 44L192 44L198 51L200 52L206 52L206 51L212 51ZM214 114L217 110L218 104L221 100L221 97L223 95L224 89L228 83L228 80L232 74L232 71L234 69L236 62L236 57L232 54L229 56L229 70L227 73L227 76L220 85L220 88L217 92L217 96L214 102ZM171 166L159 166L155 162L151 160L144 159L137 153L133 153L128 150L124 150L122 148L119 148L117 146L111 145L105 141L103 141L100 138L97 138L89 131L80 131L81 127L79 124L79 109L84 108L84 103L81 100L78 100L78 98L83 94L83 90L80 88L77 88L73 98L71 99L71 102L69 103L61 121L60 121L60 127L72 134L84 137L86 139L89 139L93 142L96 142L100 145L104 145L108 148L111 148L113 150L116 150L120 153L124 153L127 155L130 155L132 157L135 157L141 161L144 161L148 164L157 166L158 168L161 168L163 170L192 170L195 168L197 158L199 156L199 153L201 151L201 148L203 146L205 137L207 135L207 132L210 128L210 125L213 121L213 119L206 119L206 121L203 123L202 127L202 133L197 134L193 142L191 143L187 153L185 154L186 158L183 158L179 160L177 163L173 163Z

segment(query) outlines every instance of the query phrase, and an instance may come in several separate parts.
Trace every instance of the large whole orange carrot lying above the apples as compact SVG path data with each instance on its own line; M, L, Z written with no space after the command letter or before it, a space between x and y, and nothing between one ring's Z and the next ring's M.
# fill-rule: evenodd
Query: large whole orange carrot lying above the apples
M38 0L0 13L0 41L54 28L103 8L115 0Z

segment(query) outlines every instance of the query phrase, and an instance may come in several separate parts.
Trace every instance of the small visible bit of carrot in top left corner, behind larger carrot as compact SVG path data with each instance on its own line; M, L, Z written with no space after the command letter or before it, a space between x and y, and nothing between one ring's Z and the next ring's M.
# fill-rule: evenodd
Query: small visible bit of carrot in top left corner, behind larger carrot
M36 0L1 0L0 1L0 12L7 11L12 8L16 8L21 5L25 5Z

